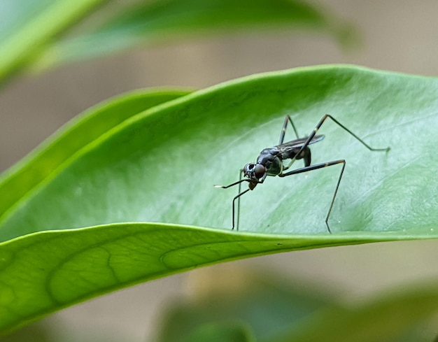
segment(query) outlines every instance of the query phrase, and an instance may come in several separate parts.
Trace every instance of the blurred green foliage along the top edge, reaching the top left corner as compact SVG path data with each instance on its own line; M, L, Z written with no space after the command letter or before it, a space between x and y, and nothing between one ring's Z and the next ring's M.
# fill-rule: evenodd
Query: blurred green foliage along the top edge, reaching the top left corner
M139 45L218 32L302 28L340 43L354 30L327 11L295 0L157 0L115 3L76 25L107 0L3 0L0 11L0 82L27 67L41 70L106 56Z

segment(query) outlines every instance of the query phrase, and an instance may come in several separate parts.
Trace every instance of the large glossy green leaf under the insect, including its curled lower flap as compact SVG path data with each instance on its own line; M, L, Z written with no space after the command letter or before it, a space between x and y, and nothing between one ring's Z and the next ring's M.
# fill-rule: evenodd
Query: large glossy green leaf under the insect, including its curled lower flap
M20 193L3 204L0 217L1 329L224 260L437 238L438 185L430 171L437 164L431 148L438 139L437 87L435 78L354 66L264 73L132 110L127 120L69 147L69 134L85 134L80 127L91 110L0 183L2 194ZM122 101L126 111L130 101L136 103ZM339 166L269 177L241 198L241 227L231 231L236 189L213 185L232 183L243 164L276 145L286 114L304 136L325 113L370 145L391 147L371 152L333 122L323 124L325 139L311 145L313 162L347 161L333 234L324 220ZM94 125L99 120L83 127ZM286 138L295 138L292 130ZM52 156L64 149L64 156ZM58 163L48 163L51 156ZM41 169L38 181L20 190L20 179Z

